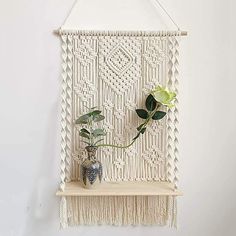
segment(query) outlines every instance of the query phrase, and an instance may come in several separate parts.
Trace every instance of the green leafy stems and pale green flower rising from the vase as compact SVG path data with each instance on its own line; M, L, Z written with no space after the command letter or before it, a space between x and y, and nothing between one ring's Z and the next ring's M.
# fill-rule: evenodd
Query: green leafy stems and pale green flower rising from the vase
M103 139L97 140L101 136L105 136L106 133L103 129L94 128L94 123L105 119L101 115L100 110L95 110L95 107L91 108L89 113L82 115L76 120L76 124L87 125L88 129L82 128L80 130L80 136L84 137L88 141L84 141L90 146L97 147L116 147L116 148L128 148L136 141L136 139L144 134L147 126L152 121L161 120L165 117L166 112L162 111L163 106L172 108L174 106L173 101L176 98L176 94L169 91L167 88L158 85L154 90L150 92L145 101L146 109L136 109L137 115L143 119L143 123L137 127L137 134L132 141L125 146L119 146L114 144L98 144Z

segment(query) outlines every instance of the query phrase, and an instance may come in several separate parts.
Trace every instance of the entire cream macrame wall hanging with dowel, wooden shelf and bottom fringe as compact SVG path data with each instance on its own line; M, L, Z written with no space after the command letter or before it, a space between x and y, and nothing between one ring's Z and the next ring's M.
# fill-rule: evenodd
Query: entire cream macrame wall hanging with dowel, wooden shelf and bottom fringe
M144 106L151 89L159 83L178 94L179 38L186 32L57 33L62 41L61 226L176 226L178 96L166 118L153 122L133 146L99 149L103 183L93 190L79 184L86 153L75 120L86 107L98 106L106 116L106 143L131 140L140 122L134 111Z

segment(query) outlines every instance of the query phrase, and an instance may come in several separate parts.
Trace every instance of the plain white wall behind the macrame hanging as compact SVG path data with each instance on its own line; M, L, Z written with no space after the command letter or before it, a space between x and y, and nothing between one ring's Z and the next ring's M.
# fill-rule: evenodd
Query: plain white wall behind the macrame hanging
M167 24L155 15L148 0L110 1L106 6L107 0L99 4L98 0L81 0L87 4L81 10L83 18L97 15L95 21L81 20L80 24L134 28L136 24L116 17L131 13L139 18L136 10L144 12L137 28L162 23L163 29ZM133 6L127 7L127 2ZM73 0L1 0L1 236L236 235L236 4L233 0L161 2L189 31L181 43L180 185L184 196L179 199L179 229L103 226L59 231L55 191L59 182L60 42L51 32L62 25ZM112 6L116 14L109 13Z

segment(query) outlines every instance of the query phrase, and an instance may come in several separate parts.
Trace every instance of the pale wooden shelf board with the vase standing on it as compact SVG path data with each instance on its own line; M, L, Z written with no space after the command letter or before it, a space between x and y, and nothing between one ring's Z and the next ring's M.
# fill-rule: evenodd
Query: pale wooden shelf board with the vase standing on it
M66 183L57 196L181 196L168 182L103 182L95 189L85 189L80 182Z

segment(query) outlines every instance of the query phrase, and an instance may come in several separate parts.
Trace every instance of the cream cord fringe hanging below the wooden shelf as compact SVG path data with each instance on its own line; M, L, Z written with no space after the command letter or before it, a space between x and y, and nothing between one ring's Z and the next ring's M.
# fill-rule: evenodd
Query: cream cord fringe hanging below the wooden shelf
M174 196L63 197L61 227L78 225L169 225L176 227Z

